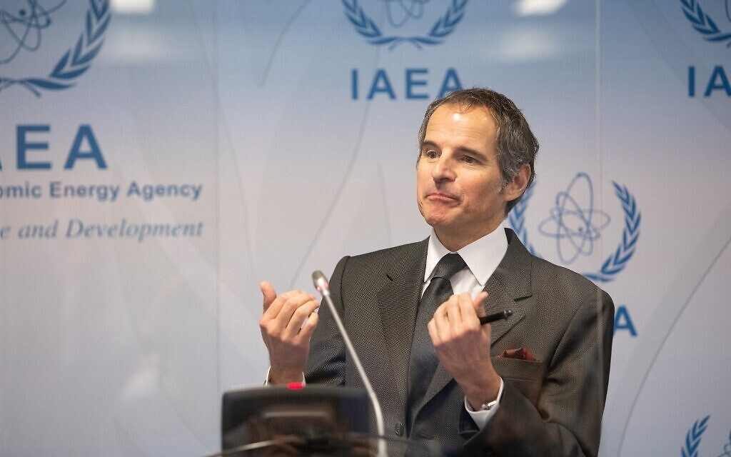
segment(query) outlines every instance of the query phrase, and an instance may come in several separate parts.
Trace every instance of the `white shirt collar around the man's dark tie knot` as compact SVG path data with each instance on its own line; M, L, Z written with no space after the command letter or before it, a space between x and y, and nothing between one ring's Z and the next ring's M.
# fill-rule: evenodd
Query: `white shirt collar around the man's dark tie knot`
M467 264L477 282L485 286L490 276L498 268L505 253L507 252L507 235L505 235L504 224L501 223L495 230L482 238L472 241L467 246L457 251ZM429 236L429 246L426 253L426 268L424 271L424 282L431 279L439 259L449 254L450 250L445 248L434 230Z

